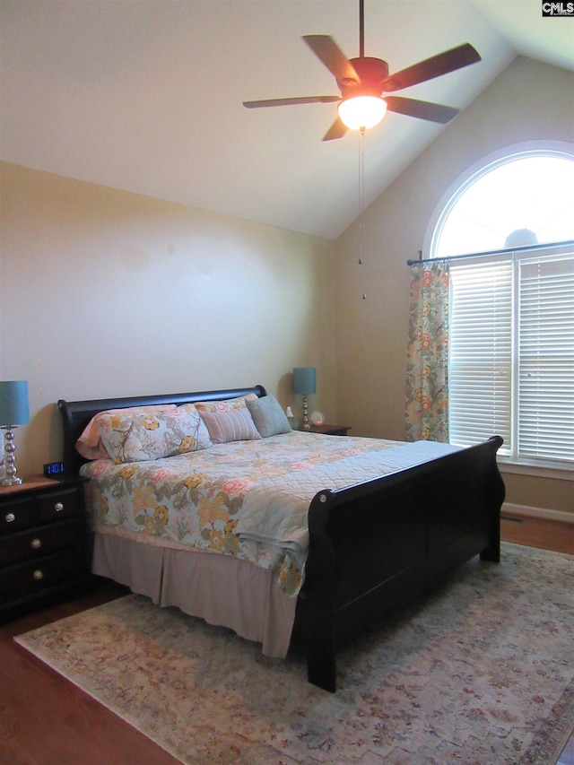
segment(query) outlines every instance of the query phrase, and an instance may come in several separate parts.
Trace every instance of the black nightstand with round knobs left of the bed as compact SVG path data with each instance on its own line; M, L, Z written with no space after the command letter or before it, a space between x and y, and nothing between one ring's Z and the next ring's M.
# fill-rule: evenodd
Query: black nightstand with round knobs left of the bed
M91 580L83 482L34 475L0 486L0 621Z

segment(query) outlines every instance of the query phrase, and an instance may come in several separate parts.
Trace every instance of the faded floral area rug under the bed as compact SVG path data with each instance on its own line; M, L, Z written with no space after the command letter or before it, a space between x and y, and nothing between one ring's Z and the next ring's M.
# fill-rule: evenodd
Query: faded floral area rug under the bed
M127 595L16 640L193 765L553 765L574 726L574 558L503 544L341 652L304 656Z

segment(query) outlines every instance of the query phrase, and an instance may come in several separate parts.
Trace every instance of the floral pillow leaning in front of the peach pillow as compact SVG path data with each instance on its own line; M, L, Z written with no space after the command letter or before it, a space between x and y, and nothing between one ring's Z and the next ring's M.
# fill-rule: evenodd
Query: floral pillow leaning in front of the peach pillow
M198 412L100 413L101 440L116 464L161 459L212 446Z

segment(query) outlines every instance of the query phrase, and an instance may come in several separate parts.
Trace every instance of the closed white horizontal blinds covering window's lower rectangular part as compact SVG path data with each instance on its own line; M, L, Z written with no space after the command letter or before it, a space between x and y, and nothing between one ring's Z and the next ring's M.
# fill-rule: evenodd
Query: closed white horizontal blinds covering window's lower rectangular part
M574 250L450 265L449 439L574 465Z

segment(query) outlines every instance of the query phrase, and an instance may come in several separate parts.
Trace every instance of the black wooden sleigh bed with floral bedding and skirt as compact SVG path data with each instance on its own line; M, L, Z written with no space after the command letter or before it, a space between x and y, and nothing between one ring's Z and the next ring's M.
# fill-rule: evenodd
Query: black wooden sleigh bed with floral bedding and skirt
M91 479L95 574L257 640L268 656L285 656L300 640L309 682L335 691L338 648L475 555L500 560L502 439L455 449L281 428L262 438L251 424L257 406L273 402L262 386L60 400L65 469ZM117 422L126 427L114 413L127 410L129 420L139 407L153 407L153 427L169 424L174 409L205 407L201 418L211 426L222 421L210 421L210 412L240 410L239 430L250 435L202 445L194 432L190 454L153 459L112 459L101 447L92 458L78 453L92 418L116 422L113 439ZM164 485L172 467L177 489ZM293 478L301 483L291 490ZM289 522L276 522L283 509Z

